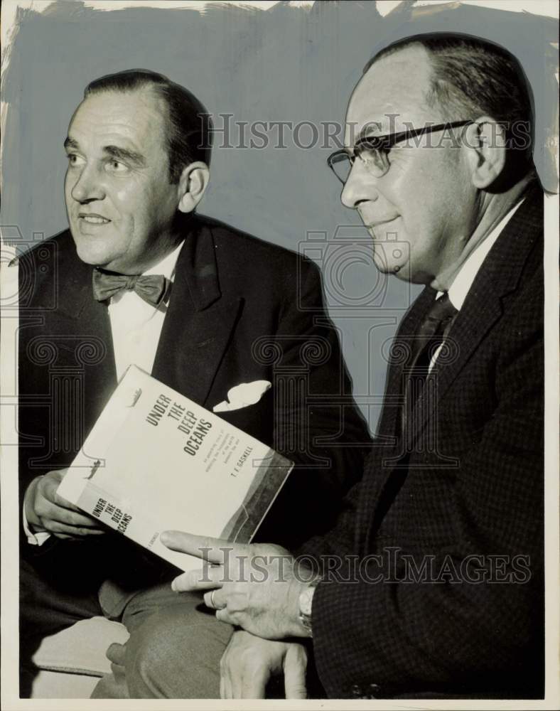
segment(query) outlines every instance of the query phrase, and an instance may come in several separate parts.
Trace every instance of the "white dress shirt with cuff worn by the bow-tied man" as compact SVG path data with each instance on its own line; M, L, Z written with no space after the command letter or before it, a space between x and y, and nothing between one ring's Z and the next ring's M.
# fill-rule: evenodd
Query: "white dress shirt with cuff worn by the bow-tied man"
M150 267L150 269L146 269L143 276L163 274L164 277L173 282L175 266L181 247L183 247L183 242L167 257L164 257L161 262L155 264L154 267ZM170 299L172 297L173 292L171 292ZM128 290L119 292L119 294L112 296L110 299L109 319L111 321L117 380L122 378L126 368L132 364L138 365L142 370L146 370L146 373L151 373L170 299L167 300L167 303L161 301L158 306L153 306L141 299L136 292ZM23 506L23 530L26 533L28 543L31 543L31 545L43 545L45 540L50 537L50 533L47 531L38 533L31 531L26 519L25 506Z

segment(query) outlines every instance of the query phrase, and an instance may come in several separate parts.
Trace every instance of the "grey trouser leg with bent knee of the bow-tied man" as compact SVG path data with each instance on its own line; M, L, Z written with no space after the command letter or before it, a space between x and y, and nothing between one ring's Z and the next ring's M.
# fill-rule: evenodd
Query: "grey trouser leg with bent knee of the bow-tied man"
M92 698L220 697L220 658L233 629L201 595L177 594L170 583L147 589L129 600L122 621L129 641L109 648L113 674Z

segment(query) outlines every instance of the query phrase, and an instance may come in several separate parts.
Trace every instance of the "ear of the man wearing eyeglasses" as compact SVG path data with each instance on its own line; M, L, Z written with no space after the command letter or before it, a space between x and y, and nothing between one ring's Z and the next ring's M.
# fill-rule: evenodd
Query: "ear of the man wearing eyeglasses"
M470 175L475 188L488 188L505 166L505 127L490 116L481 116L465 129L463 145L468 151Z

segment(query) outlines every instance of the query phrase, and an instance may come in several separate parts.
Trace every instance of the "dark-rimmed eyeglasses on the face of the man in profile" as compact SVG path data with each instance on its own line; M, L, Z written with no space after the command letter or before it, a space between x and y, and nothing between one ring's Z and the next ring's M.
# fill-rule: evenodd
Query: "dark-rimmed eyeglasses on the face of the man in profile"
M446 124L437 124L436 126L425 126L422 129L409 129L399 133L385 134L384 136L367 136L357 141L351 152L342 149L330 154L327 164L341 183L345 183L348 180L352 166L357 158L362 161L365 169L372 176L382 178L391 167L389 151L394 144L416 136L431 134L434 131L454 129L472 123L470 119L468 121L452 121Z

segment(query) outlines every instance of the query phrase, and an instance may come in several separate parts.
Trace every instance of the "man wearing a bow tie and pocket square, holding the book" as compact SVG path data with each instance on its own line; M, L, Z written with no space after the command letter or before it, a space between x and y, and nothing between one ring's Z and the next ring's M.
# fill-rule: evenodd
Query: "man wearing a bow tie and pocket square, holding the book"
M124 621L134 637L151 612L169 611L166 629L191 634L170 624L169 567L56 493L131 363L210 410L235 385L272 384L259 402L222 413L296 462L263 525L266 540L296 545L328 528L362 471L367 432L318 270L195 215L210 132L203 105L166 77L131 70L92 82L64 144L70 230L19 260L24 664L41 636L95 614ZM326 406L306 405L308 395ZM330 407L329 396L338 397ZM196 616L199 602L181 604ZM181 649L180 638L168 642ZM117 681L97 695L124 695Z

